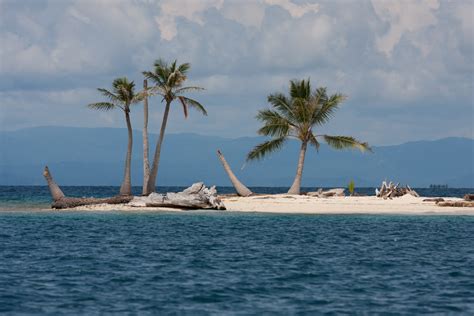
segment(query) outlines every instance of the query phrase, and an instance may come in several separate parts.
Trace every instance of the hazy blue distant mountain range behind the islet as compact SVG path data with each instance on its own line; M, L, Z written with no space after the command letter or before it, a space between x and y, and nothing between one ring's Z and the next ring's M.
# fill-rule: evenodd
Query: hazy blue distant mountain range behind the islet
M154 150L156 135L150 136ZM196 134L165 137L158 185L188 185L196 181L230 185L216 150L221 149L237 176L248 186L289 186L299 144L263 161L245 164L247 152L261 137L227 139ZM127 135L125 129L39 127L0 132L0 185L44 185L48 165L61 185L119 185ZM374 147L374 153L336 151L321 146L309 150L303 186L378 186L389 179L414 187L448 184L474 187L474 140L445 138ZM141 132L134 132L133 185L142 184ZM152 156L150 160L152 159ZM241 167L245 164L245 168Z

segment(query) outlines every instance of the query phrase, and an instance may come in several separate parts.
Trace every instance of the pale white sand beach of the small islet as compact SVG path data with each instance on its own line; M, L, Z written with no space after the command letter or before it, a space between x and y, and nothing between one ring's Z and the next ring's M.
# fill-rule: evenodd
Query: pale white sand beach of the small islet
M251 197L223 197L228 211L294 214L408 214L408 215L474 215L474 207L441 207L434 202L411 195L384 200L375 196L317 198L294 195L257 195ZM445 198L445 200L459 198ZM87 211L178 211L161 207L132 207L126 204L98 204L71 210ZM189 212L189 211L184 211Z

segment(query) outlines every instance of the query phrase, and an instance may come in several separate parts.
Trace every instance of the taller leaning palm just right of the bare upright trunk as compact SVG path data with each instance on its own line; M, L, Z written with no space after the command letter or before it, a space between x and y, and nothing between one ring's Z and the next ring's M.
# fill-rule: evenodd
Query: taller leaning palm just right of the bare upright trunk
M160 135L158 137L155 155L153 157L150 178L148 180L147 194L155 192L158 165L160 163L161 146L165 137L166 123L168 122L171 103L174 100L178 100L181 103L185 118L188 117L188 107L198 110L203 115L207 115L206 109L198 101L183 95L183 93L189 91L203 90L203 88L200 87L183 86L183 83L187 79L186 74L190 68L191 65L189 63L177 65L177 61L175 60L171 64L168 64L163 59L158 59L154 64L153 71L143 72L145 78L154 83L154 87L151 88L151 92L160 95L162 97L162 102L165 102L165 112L163 114Z

